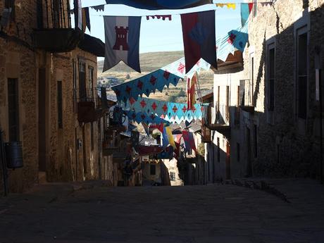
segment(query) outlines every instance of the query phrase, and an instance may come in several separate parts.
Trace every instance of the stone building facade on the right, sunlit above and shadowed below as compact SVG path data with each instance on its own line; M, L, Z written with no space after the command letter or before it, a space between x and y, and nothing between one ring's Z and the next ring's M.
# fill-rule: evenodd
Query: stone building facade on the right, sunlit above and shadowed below
M220 148L220 157L229 154L228 169L223 161L225 170L216 169L216 177L320 177L317 74L324 63L323 4L285 0L254 5L244 66L229 66L214 76L214 115L222 113L217 102L224 95L226 101L225 83L230 101L230 119L224 123L230 125L229 147L221 142L223 128L213 125L220 147L215 138L212 144Z

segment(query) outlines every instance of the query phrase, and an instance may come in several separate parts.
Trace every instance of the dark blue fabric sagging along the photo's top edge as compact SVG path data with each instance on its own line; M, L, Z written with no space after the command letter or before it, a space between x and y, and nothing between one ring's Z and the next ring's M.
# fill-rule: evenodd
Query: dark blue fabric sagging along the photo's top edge
M107 4L124 4L133 8L142 8L147 10L160 9L182 9L212 4L212 0L106 0Z

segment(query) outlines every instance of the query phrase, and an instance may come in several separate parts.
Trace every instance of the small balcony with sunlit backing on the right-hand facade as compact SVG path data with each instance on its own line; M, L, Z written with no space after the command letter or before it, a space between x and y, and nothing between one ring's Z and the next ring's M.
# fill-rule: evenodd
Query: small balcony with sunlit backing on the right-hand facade
M239 82L239 94L240 94L240 108L242 111L254 113L254 101L253 101L253 82L251 80L240 80Z

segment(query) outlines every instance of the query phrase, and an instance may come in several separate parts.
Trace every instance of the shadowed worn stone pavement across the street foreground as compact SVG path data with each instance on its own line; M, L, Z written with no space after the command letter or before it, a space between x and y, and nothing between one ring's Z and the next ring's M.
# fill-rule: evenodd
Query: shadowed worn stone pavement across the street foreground
M0 199L0 242L324 242L324 186L41 185Z

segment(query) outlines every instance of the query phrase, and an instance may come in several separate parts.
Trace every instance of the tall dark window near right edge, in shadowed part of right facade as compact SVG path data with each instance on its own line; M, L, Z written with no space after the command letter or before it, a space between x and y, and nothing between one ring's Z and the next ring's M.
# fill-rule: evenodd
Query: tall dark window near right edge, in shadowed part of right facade
M297 36L297 114L301 119L306 119L307 113L307 32L298 31Z

